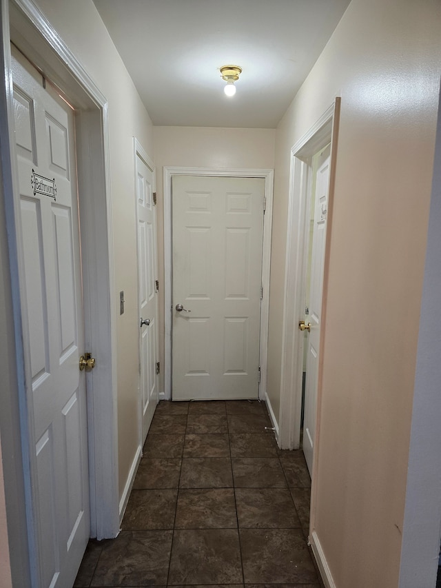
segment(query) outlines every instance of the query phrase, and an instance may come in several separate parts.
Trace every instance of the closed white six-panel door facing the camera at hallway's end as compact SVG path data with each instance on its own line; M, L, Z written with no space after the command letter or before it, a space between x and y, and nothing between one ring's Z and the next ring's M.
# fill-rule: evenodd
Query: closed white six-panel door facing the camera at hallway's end
M264 193L258 178L173 176L174 400L258 398Z

